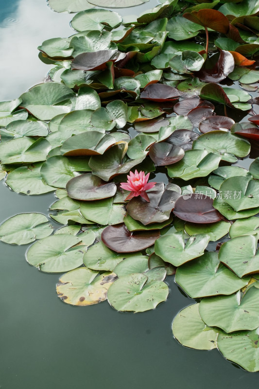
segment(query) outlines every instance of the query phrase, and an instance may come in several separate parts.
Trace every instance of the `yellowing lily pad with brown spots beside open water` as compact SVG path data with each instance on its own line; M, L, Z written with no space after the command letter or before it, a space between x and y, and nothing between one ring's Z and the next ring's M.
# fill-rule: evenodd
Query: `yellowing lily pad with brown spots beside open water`
M107 290L116 280L114 273L103 274L80 267L60 277L56 284L58 297L71 305L87 306L107 299Z

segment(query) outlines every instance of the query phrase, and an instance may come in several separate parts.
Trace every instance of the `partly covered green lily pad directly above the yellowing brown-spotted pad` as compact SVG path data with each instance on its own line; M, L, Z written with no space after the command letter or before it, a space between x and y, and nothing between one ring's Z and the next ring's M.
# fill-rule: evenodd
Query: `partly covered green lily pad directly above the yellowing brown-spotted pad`
M113 271L115 266L121 263L121 261L124 262L129 259L136 263L138 263L138 261L141 263L143 259L146 260L146 256L142 255L140 252L134 254L118 254L107 248L103 242L98 242L86 251L83 261L86 267L90 269Z

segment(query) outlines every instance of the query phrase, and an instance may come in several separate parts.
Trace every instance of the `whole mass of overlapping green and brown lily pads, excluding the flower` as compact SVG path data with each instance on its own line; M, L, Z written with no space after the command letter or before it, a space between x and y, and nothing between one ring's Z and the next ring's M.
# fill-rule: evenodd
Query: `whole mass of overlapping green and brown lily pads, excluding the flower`
M46 82L0 103L0 178L17 193L55 191L63 227L18 214L0 240L37 240L27 262L66 272L56 290L72 305L154 309L175 274L198 299L174 318L175 338L258 371L259 158L236 164L258 150L258 2L167 0L123 20L95 8L117 0L49 5L78 12L76 33L44 41ZM168 184L126 201L133 169Z

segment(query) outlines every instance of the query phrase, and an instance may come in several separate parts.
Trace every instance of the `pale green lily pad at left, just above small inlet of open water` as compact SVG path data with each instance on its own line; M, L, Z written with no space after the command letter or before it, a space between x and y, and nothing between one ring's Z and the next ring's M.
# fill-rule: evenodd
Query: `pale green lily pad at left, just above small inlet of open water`
M52 192L55 187L48 185L42 178L42 163L20 166L12 170L6 177L6 184L16 193L25 195L42 195Z

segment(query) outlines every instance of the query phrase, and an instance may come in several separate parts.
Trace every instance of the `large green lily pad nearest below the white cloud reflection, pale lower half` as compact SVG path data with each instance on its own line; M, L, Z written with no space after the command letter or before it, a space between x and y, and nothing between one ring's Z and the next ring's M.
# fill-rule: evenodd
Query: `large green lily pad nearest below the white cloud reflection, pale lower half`
M74 92L70 88L56 82L36 85L20 96L21 106L39 120L70 112L72 97Z

